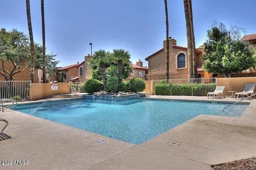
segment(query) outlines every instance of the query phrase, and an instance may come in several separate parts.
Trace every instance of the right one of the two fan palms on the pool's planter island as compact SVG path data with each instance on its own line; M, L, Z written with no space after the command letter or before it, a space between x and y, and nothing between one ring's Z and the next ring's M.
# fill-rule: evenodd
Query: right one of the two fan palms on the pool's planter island
M131 63L130 58L131 55L129 51L125 51L124 49L113 49L112 60L115 64L117 64L118 69L118 89L116 91L117 93L120 91L122 85L122 72L124 64Z

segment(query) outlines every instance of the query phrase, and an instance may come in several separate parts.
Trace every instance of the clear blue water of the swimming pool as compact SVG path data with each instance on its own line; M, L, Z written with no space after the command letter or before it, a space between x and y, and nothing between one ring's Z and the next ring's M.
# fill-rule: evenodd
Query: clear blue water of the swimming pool
M17 105L14 110L133 144L141 144L200 114L240 117L248 105L186 101L69 100Z

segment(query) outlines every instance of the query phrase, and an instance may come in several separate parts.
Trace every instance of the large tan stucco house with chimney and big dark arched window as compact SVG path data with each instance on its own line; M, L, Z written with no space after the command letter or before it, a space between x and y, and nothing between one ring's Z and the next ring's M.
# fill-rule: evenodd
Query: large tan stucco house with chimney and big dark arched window
M203 60L201 59L204 46L196 48L197 71L199 78L212 77L202 69ZM164 48L156 51L145 58L148 61L148 79L159 80L166 77L166 40ZM188 78L188 48L178 46L176 40L169 38L169 78L187 79Z

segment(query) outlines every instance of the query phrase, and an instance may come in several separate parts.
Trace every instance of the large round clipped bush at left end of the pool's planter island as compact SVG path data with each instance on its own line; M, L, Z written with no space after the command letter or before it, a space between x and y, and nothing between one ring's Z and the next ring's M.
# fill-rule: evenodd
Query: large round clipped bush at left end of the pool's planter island
M84 83L86 93L95 93L103 90L103 83L96 79L90 79Z

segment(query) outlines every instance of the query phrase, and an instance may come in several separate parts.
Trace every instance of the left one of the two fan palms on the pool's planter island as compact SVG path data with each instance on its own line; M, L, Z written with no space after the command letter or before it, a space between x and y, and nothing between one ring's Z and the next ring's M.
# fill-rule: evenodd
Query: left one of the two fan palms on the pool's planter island
M104 90L107 89L106 81L106 67L109 65L110 52L100 49L95 51L92 57L90 58L89 65L92 68L98 67L100 69L100 75L102 77Z

